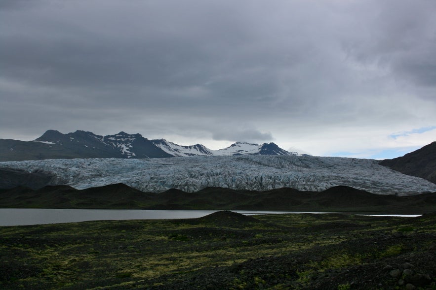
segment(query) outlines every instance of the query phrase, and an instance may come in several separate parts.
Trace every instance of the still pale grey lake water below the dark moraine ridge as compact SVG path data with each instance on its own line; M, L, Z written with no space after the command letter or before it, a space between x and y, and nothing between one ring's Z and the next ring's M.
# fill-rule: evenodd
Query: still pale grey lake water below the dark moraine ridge
M29 226L42 224L78 223L105 220L156 220L200 218L218 210L142 210L142 209L44 209L0 208L0 226ZM243 215L314 213L232 210ZM419 215L388 215L417 217Z

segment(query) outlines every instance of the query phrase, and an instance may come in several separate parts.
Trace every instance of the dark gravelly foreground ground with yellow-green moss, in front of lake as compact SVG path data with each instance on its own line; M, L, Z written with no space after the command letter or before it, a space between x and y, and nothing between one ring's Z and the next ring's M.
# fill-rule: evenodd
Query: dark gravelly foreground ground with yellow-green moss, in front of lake
M0 237L0 289L403 289L383 268L404 261L435 289L434 215L219 212L5 226Z

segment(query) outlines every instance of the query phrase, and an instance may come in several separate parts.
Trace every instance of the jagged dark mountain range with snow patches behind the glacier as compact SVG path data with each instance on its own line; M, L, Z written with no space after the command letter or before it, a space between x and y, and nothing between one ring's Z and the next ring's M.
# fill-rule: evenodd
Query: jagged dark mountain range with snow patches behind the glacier
M77 130L63 134L47 130L33 141L0 139L0 161L23 161L75 158L150 159L190 156L237 155L298 155L274 143L253 144L237 142L231 146L210 150L204 145L181 146L165 139L149 140L141 134L119 132L115 135L96 135Z

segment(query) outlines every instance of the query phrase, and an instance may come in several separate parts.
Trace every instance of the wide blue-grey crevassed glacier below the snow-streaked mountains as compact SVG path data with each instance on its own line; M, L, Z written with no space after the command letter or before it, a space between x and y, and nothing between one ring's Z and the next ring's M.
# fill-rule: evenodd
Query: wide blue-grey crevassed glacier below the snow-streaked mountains
M315 156L195 156L162 159L4 161L0 167L54 176L52 185L76 189L123 183L143 192L196 192L206 187L267 191L282 187L323 191L350 186L377 194L436 192L436 184L404 175L376 160Z

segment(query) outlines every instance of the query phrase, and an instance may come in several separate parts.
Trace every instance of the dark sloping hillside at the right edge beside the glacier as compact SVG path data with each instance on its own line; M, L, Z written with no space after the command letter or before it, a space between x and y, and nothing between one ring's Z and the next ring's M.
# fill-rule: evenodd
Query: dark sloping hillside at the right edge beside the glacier
M380 164L436 183L436 142L407 153L403 157L380 161Z

